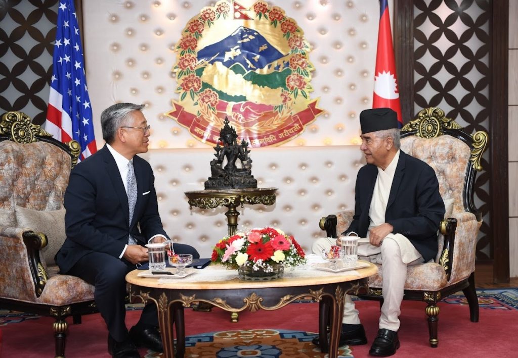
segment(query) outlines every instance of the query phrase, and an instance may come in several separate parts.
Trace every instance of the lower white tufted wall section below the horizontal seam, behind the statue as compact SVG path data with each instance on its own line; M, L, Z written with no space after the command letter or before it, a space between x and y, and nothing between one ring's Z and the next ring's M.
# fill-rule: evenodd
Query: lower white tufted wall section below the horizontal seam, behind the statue
M226 208L189 210L183 194L203 190L212 148L155 150L141 155L155 173L164 228L179 243L194 245L204 257L228 233ZM354 208L354 183L365 164L357 146L277 147L252 150L252 173L259 187L276 187L274 205L238 208L238 230L273 225L295 236L308 252L321 237L322 216Z

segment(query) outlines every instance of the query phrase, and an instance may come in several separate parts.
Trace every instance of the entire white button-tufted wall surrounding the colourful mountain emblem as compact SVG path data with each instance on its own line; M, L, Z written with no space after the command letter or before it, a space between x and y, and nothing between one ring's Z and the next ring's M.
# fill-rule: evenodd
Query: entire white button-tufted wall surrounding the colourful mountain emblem
M94 118L114 102L146 103L152 132L150 151L143 157L155 170L164 226L175 240L194 244L203 256L210 255L211 247L227 232L225 209L204 214L197 208L190 211L183 192L203 189L213 149L163 113L178 96L170 72L176 56L171 48L185 24L202 7L214 3L83 2L84 49ZM269 4L282 7L295 19L312 44L309 56L316 70L311 98L320 97L319 108L325 113L293 141L252 150L252 174L261 180L260 187L279 188L277 203L240 209L239 225L277 223L308 249L313 238L323 233L318 228L321 216L354 205L354 181L363 163L357 146L357 116L372 103L379 2L276 0ZM392 15L392 1L389 6ZM98 146L102 146L98 119L94 125Z

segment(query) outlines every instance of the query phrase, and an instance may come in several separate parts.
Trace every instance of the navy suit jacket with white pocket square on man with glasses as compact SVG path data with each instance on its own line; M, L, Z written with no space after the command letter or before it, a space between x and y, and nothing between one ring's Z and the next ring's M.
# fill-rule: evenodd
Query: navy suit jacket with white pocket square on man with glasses
M158 211L153 170L138 156L133 158L133 167L138 197L131 225L126 190L106 145L71 171L64 201L67 238L56 254L61 273L67 273L89 252L106 252L118 258L129 233L141 245L156 234L167 237Z

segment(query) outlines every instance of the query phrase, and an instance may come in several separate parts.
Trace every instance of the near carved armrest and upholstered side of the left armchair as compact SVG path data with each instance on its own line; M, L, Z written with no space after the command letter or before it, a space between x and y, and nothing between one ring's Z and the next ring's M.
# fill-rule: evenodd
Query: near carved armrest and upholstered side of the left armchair
M33 302L48 280L39 251L47 236L27 228L0 226L0 292L2 296Z

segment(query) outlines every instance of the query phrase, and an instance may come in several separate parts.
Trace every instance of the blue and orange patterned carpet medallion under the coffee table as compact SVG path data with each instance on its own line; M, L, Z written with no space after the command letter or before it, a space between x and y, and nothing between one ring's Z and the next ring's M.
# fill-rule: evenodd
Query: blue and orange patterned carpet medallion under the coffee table
M289 330L222 331L186 337L185 358L324 358L319 348L311 344L316 335ZM145 358L161 357L148 351ZM339 349L338 357L352 357L348 346Z

